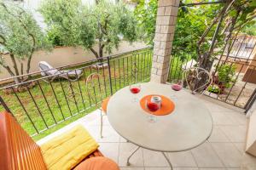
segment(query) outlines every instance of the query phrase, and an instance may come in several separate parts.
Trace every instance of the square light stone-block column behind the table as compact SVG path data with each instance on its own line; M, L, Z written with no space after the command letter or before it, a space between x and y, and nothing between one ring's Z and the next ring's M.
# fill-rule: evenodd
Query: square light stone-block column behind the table
M151 82L165 83L172 53L179 0L159 0L154 35Z

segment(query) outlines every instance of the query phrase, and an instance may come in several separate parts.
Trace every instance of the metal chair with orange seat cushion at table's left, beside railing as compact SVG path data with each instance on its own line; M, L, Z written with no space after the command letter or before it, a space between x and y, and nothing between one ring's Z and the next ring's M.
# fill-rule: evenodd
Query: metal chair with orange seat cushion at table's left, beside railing
M100 129L100 135L102 138L102 126L103 126L103 116L107 115L107 106L108 101L110 97L104 99L103 92L105 91L103 89L104 84L102 81L102 75L99 73L91 73L87 79L86 79L86 89L87 94L89 96L89 99L94 102L96 105L96 108L101 111L101 129ZM97 93L98 89L98 93Z

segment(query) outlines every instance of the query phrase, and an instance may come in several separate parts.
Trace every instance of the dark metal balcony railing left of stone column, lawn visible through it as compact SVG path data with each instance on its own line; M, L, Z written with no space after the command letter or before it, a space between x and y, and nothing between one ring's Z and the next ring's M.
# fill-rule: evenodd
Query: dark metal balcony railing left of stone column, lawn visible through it
M43 133L61 122L72 122L74 117L84 116L96 110L96 102L90 99L86 91L86 77L97 72L102 75L103 83L93 93L98 96L114 94L120 88L134 82L148 82L152 65L152 49L143 48L137 51L108 56L102 59L102 65L96 66L98 61L90 60L75 65L66 65L58 70L82 71L79 80L71 81L61 78L61 73L42 77L41 72L33 72L20 77L31 77L26 82L15 84L14 77L2 80L0 88L0 110L9 111L20 122L20 125L31 136ZM137 72L133 67L136 65ZM68 73L67 73L68 74ZM51 79L55 77L54 81ZM68 77L68 75L67 75ZM3 85L3 82L8 82ZM12 82L12 83L10 83Z

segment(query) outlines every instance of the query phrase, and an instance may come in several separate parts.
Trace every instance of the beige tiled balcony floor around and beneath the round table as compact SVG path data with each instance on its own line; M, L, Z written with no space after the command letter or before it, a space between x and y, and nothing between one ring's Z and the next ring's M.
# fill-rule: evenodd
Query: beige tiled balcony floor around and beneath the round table
M178 153L169 153L174 170L256 170L256 158L244 153L247 132L247 118L243 113L227 109L224 106L204 100L212 113L214 122L212 136L198 148ZM78 123L86 127L91 135L99 142L100 150L113 161L121 170L168 170L168 164L160 154L151 150L140 149L131 157L131 166L126 166L126 158L136 148L127 143L113 130L104 116L103 138L99 136L100 112L94 111L76 122L50 134L38 141L42 144L59 133L66 132Z

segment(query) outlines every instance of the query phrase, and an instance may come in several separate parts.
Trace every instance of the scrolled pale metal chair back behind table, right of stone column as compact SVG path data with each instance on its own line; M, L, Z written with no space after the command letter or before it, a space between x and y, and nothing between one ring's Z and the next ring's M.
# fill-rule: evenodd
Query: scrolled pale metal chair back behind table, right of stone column
M191 67L183 71L183 86L188 86L192 94L196 92L204 94L205 89L211 84L212 74L201 67Z

